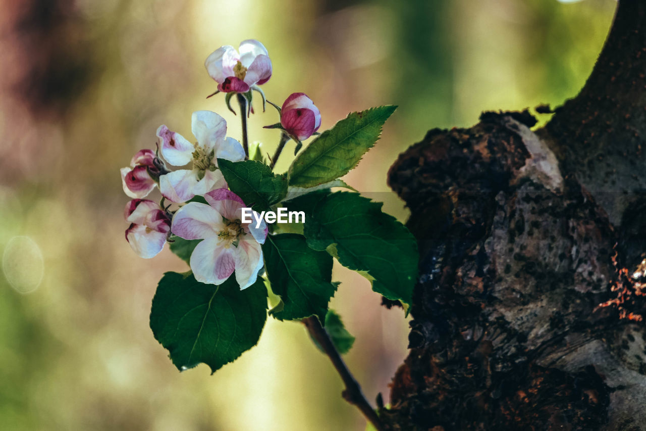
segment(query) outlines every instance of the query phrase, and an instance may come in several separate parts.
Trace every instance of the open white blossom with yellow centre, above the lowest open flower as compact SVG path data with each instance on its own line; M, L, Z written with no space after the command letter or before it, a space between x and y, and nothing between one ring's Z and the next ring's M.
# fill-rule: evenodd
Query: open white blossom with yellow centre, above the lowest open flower
M183 166L193 161L190 170L180 169L160 177L161 194L176 203L227 186L222 172L218 170L217 159L232 162L245 159L240 142L226 137L227 122L220 115L211 111L196 111L191 117L191 129L197 139L195 144L164 125L157 129L161 154L169 164Z

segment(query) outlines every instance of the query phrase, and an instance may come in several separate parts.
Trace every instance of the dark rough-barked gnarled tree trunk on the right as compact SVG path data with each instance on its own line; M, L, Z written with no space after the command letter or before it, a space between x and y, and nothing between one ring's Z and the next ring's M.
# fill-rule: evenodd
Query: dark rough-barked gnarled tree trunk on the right
M389 183L419 241L393 430L646 430L646 2L579 95L433 129Z

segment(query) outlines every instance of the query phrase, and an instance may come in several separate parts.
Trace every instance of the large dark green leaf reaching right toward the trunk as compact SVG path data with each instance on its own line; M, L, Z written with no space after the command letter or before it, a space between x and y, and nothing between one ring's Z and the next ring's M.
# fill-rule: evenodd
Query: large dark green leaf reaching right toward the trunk
M381 206L358 193L336 192L319 199L306 213L307 245L328 251L341 265L358 271L370 280L373 291L411 304L417 243Z

